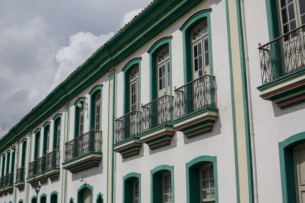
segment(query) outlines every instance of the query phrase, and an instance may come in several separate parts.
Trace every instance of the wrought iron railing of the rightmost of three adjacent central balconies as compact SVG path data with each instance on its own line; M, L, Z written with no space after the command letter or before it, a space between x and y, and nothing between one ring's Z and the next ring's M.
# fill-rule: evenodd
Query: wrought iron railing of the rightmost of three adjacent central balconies
M175 119L205 107L216 108L215 76L203 75L175 92Z

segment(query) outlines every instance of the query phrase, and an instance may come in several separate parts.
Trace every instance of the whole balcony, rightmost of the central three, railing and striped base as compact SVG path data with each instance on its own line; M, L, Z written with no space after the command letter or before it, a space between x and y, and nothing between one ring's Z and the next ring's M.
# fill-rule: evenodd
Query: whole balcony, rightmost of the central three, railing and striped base
M203 75L175 92L173 129L192 139L212 131L218 119L215 76Z

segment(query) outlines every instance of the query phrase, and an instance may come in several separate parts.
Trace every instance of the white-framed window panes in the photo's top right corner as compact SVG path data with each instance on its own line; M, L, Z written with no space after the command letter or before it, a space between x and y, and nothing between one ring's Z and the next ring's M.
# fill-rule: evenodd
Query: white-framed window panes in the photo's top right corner
M279 0L282 34L305 24L305 2L303 0Z

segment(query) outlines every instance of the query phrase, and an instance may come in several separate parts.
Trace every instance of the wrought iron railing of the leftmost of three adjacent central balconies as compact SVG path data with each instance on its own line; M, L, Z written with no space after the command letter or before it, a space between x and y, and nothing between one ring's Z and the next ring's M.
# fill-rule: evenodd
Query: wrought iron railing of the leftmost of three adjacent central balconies
M132 111L115 120L115 142L138 136L140 132L140 111Z

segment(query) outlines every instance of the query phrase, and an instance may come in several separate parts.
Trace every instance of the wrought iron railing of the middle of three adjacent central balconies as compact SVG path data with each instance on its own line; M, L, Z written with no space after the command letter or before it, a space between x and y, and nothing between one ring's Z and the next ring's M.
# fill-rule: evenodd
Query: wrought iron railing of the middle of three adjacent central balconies
M163 124L173 118L173 96L164 95L141 107L141 132Z

